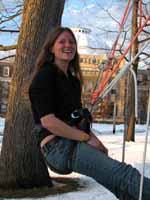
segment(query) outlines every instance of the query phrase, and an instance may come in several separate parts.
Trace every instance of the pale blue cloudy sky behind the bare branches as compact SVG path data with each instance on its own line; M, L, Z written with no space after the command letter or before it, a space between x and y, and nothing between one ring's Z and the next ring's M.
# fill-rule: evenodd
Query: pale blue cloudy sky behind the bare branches
M17 0L1 0L3 4L9 5L11 12L12 2ZM22 0L18 0L20 2ZM126 0L66 0L62 17L62 25L68 27L85 27L92 30L92 36L96 39L98 46L103 41L111 46L112 40L118 30L118 24L108 14L119 22L125 8ZM8 13L9 14L9 13ZM11 29L17 29L18 20L11 22ZM115 30L116 32L108 32ZM0 32L0 44L10 45L17 42L17 34L6 34Z

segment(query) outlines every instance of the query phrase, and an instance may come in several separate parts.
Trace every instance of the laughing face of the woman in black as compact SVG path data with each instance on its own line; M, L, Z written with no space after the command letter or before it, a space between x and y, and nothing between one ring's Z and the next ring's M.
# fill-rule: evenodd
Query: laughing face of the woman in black
M76 53L76 42L68 31L64 31L56 39L52 53L55 56L55 63L67 62L69 63Z

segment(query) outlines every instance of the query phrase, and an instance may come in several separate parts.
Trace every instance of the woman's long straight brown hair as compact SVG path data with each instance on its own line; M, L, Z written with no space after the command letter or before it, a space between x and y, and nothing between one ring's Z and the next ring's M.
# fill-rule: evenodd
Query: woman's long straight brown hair
M71 29L67 27L60 27L60 26L55 28L53 31L48 33L47 38L42 46L40 54L36 60L37 70L39 70L46 62L49 62L49 63L54 62L54 55L51 52L52 47L55 44L55 41L57 40L57 38L60 36L60 34L65 31L69 32L72 35L77 47L77 41ZM69 67L70 67L70 70L74 73L74 75L80 79L81 83L83 83L83 77L82 77L82 73L80 69L79 54L77 52L77 48L76 48L76 53L75 53L74 58L70 61Z

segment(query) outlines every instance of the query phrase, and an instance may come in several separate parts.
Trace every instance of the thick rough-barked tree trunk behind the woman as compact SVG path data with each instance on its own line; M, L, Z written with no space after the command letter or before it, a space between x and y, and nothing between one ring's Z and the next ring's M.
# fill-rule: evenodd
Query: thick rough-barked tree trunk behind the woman
M47 32L60 25L65 0L26 0L12 77L0 157L0 187L51 186L32 134L28 87Z

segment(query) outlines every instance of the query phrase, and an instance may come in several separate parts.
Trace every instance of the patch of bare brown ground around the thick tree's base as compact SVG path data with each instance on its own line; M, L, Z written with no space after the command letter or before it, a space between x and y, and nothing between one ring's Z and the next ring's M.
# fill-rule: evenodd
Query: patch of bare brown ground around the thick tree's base
M0 198L42 198L67 192L80 191L85 186L79 184L78 178L55 177L51 178L53 187L42 187L32 189L1 189Z

